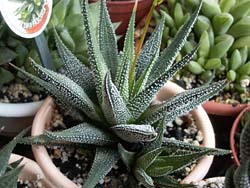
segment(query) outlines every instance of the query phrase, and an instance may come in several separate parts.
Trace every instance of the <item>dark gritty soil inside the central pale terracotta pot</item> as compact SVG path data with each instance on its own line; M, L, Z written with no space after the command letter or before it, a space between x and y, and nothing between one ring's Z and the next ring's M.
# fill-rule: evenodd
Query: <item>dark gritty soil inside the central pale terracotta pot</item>
M58 110L54 111L51 125L48 129L52 131L63 130L65 128L77 125L70 116L62 116ZM175 121L167 125L164 133L167 138L178 139L195 145L200 145L203 140L201 132L197 129L191 115L184 115L176 118ZM75 182L79 187L87 178L94 159L94 149L76 148L76 147L47 147L48 152L58 169L69 179ZM195 167L192 164L174 176L178 180L183 179ZM128 172L124 164L119 161L111 172L99 182L98 188L124 188L128 179Z

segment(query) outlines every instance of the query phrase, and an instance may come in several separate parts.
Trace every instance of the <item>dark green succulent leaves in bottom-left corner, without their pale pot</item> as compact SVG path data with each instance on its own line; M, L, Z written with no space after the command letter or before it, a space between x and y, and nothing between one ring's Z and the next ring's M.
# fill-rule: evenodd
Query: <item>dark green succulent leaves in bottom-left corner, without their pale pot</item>
M12 150L20 139L26 134L28 129L19 133L11 142L5 145L0 150L0 187L16 188L18 175L23 169L23 165L20 165L22 159L8 164Z

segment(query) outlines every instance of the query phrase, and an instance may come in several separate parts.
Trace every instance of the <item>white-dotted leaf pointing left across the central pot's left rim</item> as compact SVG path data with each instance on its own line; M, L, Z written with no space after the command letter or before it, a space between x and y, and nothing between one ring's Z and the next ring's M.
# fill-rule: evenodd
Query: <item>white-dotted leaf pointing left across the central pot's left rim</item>
M28 137L22 140L22 143L37 145L71 143L105 146L116 142L117 140L113 135L88 123L82 123L58 132L46 131L43 135Z

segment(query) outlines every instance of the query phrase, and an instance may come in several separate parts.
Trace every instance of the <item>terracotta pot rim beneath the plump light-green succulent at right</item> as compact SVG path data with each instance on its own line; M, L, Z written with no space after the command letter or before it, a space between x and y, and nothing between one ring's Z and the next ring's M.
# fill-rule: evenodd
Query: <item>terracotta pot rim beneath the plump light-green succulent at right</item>
M239 104L237 106L232 106L230 104L207 101L202 106L208 114L235 117L247 106L247 104Z

